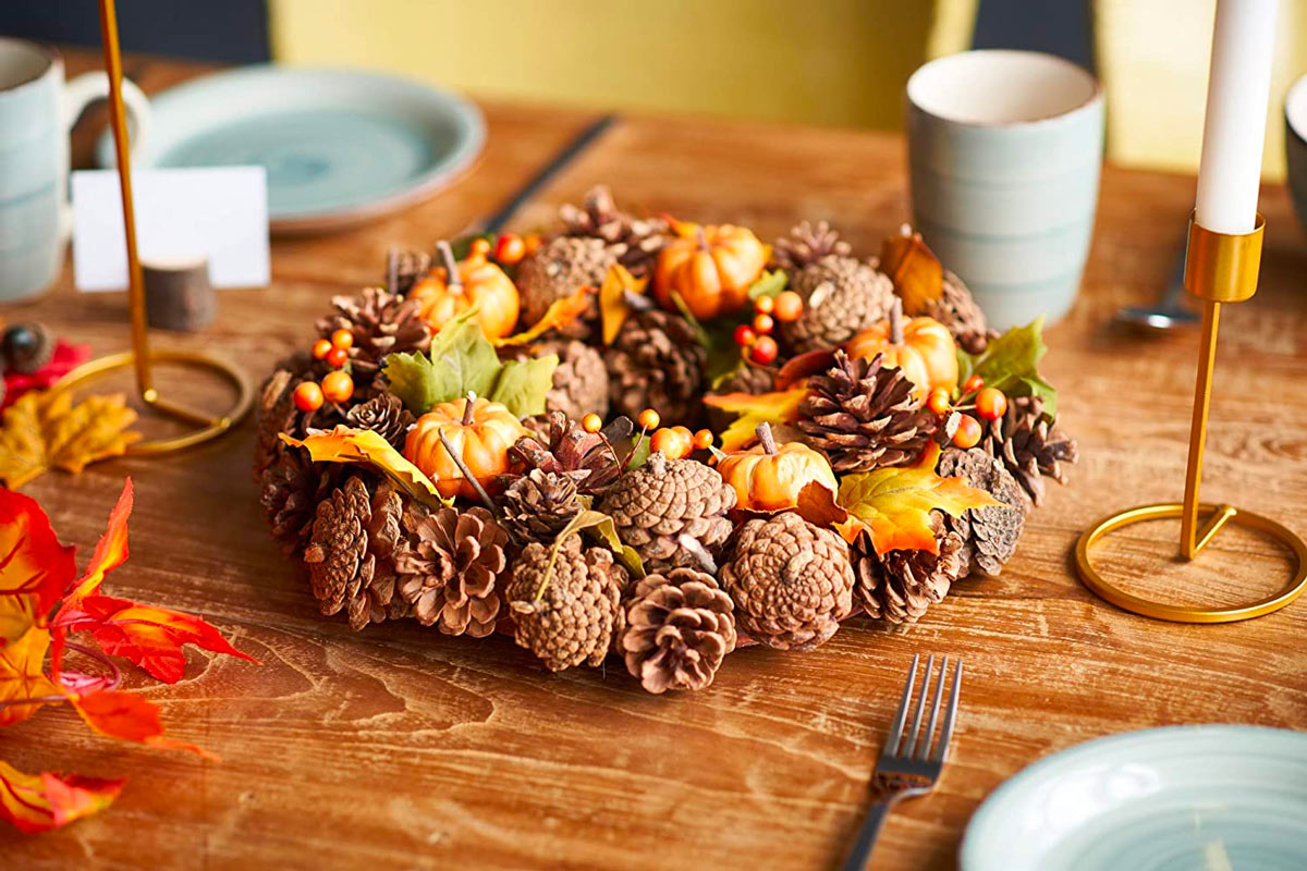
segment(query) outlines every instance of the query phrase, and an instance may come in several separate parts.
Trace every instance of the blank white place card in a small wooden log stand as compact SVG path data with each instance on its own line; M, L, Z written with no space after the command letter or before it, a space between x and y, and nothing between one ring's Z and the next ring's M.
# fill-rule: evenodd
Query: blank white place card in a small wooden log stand
M123 197L115 170L72 176L73 278L78 290L125 290ZM261 166L132 172L141 262L208 260L214 287L264 287L268 179Z

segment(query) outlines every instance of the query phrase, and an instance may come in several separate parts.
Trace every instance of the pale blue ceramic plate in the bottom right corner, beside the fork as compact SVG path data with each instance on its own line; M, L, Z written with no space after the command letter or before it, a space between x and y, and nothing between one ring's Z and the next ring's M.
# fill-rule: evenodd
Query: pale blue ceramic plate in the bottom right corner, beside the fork
M1040 760L967 827L963 871L1302 871L1307 734L1127 733Z

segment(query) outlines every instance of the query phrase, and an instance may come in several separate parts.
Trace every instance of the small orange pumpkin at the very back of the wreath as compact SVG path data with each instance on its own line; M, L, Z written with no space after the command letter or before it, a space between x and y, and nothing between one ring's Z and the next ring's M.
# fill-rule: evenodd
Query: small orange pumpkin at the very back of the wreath
M654 296L668 311L678 311L676 293L699 320L728 315L749 302L749 285L758 279L771 249L746 227L729 223L701 227L677 223L677 238L667 243L654 270Z

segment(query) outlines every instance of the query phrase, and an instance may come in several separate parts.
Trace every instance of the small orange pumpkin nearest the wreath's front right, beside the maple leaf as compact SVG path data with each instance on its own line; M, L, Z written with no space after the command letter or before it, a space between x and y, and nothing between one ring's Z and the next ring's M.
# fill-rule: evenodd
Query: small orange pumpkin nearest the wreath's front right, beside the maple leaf
M718 462L721 478L736 491L736 508L784 511L799 504L800 491L816 483L835 494L839 482L826 457L801 441L776 447L771 427L758 424L759 444Z

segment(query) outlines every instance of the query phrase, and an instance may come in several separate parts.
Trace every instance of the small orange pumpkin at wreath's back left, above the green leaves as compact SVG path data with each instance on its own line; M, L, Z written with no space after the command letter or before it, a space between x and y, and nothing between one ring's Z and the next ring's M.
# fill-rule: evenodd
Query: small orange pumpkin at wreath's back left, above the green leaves
M518 325L520 304L512 279L486 260L481 248L473 248L467 260L455 262L450 243L440 242L437 247L444 266L437 266L409 290L409 299L418 302L418 315L431 332L439 332L450 319L476 306L477 321L488 338L511 334Z

